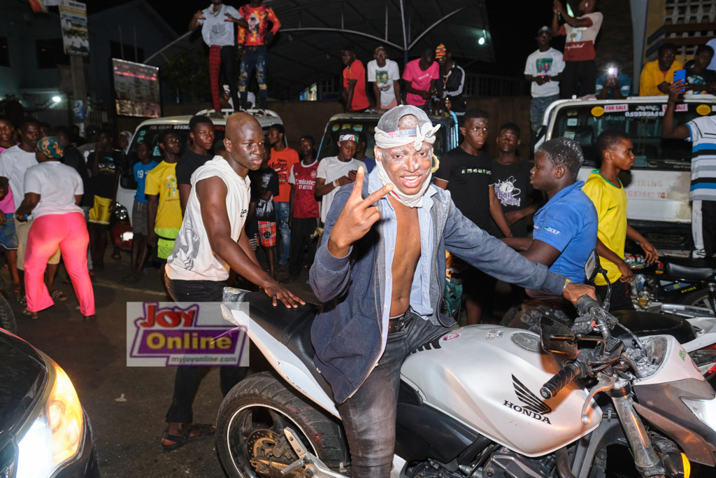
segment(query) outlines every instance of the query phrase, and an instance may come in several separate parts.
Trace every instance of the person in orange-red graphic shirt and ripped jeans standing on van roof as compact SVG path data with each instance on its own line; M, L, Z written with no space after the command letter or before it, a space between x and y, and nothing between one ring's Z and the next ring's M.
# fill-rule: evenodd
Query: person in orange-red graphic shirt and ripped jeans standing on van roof
M270 6L263 4L261 0L251 0L248 5L238 9L240 19L234 19L227 15L231 21L238 24L238 54L241 57L241 76L238 77L238 92L241 95L241 109L248 110L248 86L249 76L256 68L256 81L258 82L258 107L266 109L266 98L269 95L266 90L266 47L279 32L281 22ZM273 24L270 32L269 21Z

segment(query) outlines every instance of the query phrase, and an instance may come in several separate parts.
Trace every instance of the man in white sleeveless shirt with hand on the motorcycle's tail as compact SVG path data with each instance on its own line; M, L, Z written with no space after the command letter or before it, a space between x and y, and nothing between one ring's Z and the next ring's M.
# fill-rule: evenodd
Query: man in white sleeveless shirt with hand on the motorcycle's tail
M243 231L250 184L246 176L261 166L263 130L251 115L234 113L226 122L224 145L225 156L214 156L191 176L184 221L167 259L169 294L177 302L221 302L229 269L234 269L261 287L274 305L281 300L286 307L298 307L304 301L263 271ZM213 426L191 423L201 369L177 367L164 449L213 434ZM245 375L244 368L221 367L222 392L226 395Z

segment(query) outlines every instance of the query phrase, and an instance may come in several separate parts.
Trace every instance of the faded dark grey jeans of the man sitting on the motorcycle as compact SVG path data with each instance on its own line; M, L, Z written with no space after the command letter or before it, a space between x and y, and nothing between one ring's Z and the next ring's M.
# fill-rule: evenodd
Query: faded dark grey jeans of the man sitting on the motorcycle
M353 478L385 478L395 451L400 367L410 353L450 329L414 316L399 332L388 334L378 365L356 393L338 406L351 452Z

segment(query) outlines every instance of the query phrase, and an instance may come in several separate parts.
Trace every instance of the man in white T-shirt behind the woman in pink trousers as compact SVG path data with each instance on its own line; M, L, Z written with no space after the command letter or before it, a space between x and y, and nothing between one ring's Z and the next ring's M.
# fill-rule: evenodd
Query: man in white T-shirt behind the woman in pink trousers
M10 182L12 197L15 201L15 210L20 207L25 197L25 171L30 166L37 164L35 148L37 148L37 141L40 139L40 126L36 119L27 116L20 120L18 130L20 133L20 144L14 145L12 148L7 148L0 153L0 176L5 176ZM32 226L32 219L25 222L15 221L15 231L19 243L17 247L17 273L20 277L21 287L21 292L18 294L17 299L22 303L25 302L25 252L27 249L27 234L30 232L30 226ZM59 256L59 249L57 249L57 252L52 254L52 257L50 257L47 262L47 264L49 264L49 267L47 267L48 274L51 274L53 278L57 272Z

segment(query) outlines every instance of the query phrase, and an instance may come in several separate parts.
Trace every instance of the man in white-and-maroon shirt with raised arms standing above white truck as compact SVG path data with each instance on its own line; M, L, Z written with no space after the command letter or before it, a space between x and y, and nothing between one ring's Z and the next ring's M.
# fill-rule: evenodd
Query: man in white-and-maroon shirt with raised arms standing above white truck
M594 41L599 34L604 16L596 8L596 0L581 0L579 14L569 16L559 0L552 6L552 32L555 37L564 35L564 72L562 73L562 97L571 98L594 95L596 86L596 63ZM559 26L559 16L566 22Z

